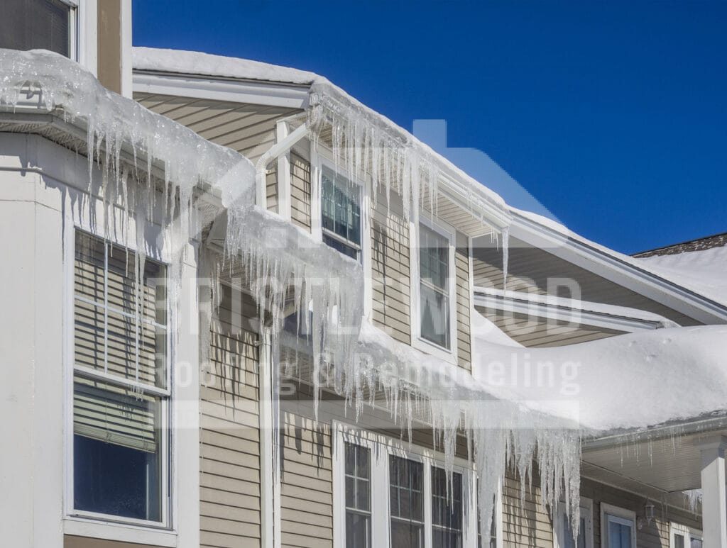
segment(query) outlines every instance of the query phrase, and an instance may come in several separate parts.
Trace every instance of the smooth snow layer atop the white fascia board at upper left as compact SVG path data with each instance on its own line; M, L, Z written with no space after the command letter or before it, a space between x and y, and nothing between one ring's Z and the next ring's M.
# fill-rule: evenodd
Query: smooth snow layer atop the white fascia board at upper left
M180 49L134 47L132 48L132 62L135 70L153 70L164 73L300 84L326 81L326 78L322 76L297 68L268 65L264 62L236 57L185 52Z

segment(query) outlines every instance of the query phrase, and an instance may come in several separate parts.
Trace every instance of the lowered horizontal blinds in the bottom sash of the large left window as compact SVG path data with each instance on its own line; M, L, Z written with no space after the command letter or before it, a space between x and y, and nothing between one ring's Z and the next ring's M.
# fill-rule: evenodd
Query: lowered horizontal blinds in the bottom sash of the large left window
M156 453L160 400L109 383L76 376L73 432L86 438Z

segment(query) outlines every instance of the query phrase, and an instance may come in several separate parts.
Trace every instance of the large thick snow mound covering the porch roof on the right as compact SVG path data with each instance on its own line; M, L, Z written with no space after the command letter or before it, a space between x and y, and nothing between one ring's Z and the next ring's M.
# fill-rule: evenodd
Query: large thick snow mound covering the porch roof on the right
M646 428L727 409L727 326L654 330L558 348L506 348L476 334L473 339L473 375L490 393L579 420L585 429ZM576 410L577 416L567 414Z

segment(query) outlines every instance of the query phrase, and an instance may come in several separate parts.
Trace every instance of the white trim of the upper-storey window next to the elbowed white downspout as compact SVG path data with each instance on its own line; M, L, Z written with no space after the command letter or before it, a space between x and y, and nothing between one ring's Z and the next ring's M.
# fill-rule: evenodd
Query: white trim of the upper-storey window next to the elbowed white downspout
M373 285L371 271L371 177L366 175L362 180L348 173L342 165L337 165L332 151L318 144L318 148L310 144L310 233L318 242L323 242L323 198L321 177L323 171L332 171L336 176L361 187L361 266L364 269L364 317L371 320L373 311Z

